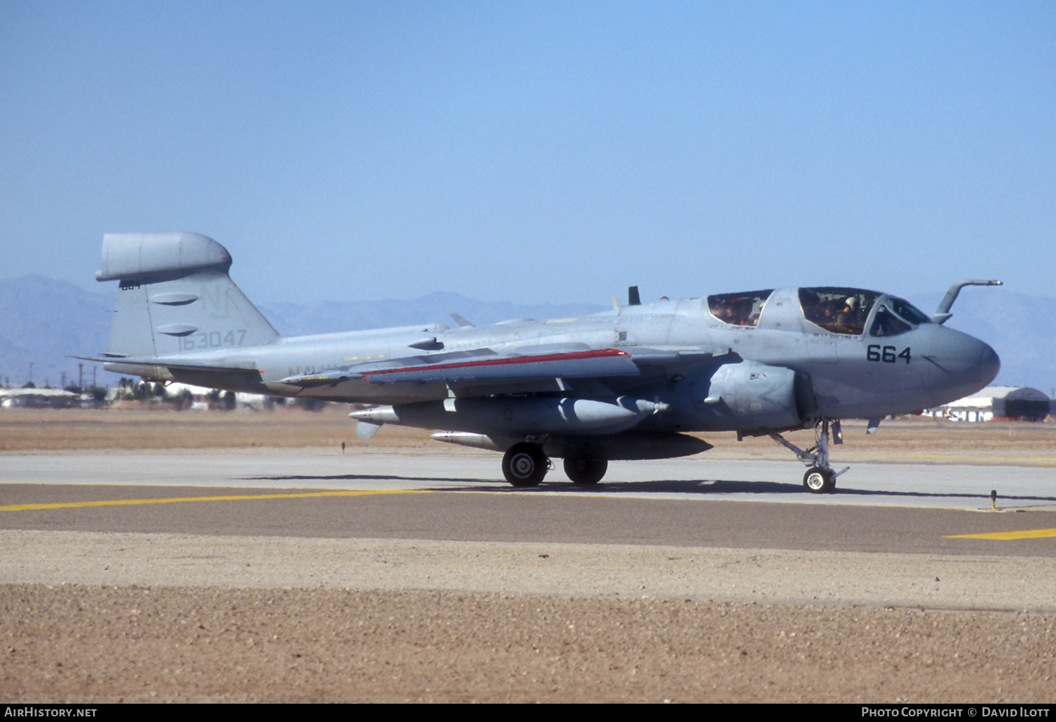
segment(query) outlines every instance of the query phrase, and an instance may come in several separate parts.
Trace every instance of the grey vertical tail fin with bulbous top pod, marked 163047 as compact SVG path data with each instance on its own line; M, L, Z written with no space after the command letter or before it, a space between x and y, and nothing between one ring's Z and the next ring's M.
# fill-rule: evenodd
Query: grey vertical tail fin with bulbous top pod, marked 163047
M279 338L227 274L231 254L199 233L107 233L98 281L120 281L107 355L148 357ZM116 360L116 359L115 359Z

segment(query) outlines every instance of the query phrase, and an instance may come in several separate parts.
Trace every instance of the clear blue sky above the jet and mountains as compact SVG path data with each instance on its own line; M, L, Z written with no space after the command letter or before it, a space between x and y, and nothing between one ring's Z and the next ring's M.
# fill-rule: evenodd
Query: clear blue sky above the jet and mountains
M258 301L1056 296L1053 2L0 2L0 276Z

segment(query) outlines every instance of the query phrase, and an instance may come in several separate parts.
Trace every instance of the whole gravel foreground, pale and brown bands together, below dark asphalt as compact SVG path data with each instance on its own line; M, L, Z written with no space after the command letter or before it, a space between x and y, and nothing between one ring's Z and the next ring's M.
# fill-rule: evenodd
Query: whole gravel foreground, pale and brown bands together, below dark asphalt
M0 699L1056 698L1051 558L535 546L0 532Z

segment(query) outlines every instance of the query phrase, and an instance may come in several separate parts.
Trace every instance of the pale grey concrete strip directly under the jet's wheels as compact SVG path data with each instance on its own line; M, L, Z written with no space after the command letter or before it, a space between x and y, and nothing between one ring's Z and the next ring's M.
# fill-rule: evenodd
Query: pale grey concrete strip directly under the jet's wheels
M855 463L833 494L807 493L795 461L715 458L615 461L595 488L571 484L559 468L536 489L502 480L499 455L452 449L342 455L321 449L208 450L143 453L5 454L0 493L8 484L132 484L378 490L487 490L516 494L580 493L623 498L701 498L837 505L1056 511L1052 466ZM835 464L837 468L840 464Z

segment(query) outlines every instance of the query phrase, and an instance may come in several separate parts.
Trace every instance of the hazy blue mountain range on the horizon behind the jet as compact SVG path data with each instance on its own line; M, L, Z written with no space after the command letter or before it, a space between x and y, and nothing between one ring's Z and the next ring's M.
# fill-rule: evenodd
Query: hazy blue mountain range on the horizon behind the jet
M728 290L728 289L723 289ZM0 384L38 386L76 383L77 359L71 354L98 354L110 338L116 289L90 292L79 286L40 276L0 281ZM930 314L942 293L910 297ZM313 304L259 304L284 336L384 328L417 323L454 325L455 312L475 324L507 319L548 319L605 310L588 304L517 305L467 299L437 291L410 301L328 301ZM1006 288L965 288L954 304L947 325L983 339L1001 357L995 383L1033 386L1053 396L1056 387L1056 299L1015 293ZM101 364L83 362L83 380L93 372L99 385L118 377Z

